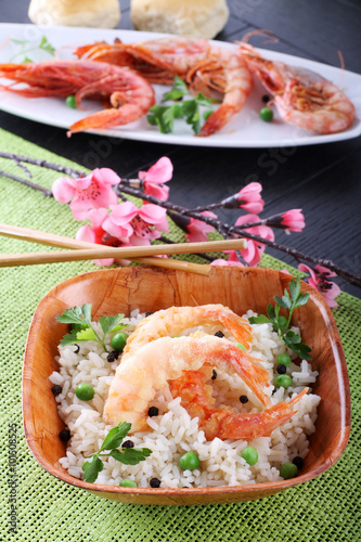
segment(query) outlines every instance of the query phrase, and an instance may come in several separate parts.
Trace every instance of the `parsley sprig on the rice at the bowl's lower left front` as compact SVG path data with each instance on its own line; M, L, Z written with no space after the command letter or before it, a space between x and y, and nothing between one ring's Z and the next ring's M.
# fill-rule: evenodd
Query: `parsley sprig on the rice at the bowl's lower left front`
M144 461L151 455L152 450L149 448L126 448L121 452L118 450L130 428L131 424L124 422L109 430L99 452L90 455L88 459L91 457L91 461L86 461L82 465L86 481L93 483L99 473L103 470L104 464L100 457L111 456L125 465L138 465L140 461ZM102 453L104 451L108 451L108 453Z

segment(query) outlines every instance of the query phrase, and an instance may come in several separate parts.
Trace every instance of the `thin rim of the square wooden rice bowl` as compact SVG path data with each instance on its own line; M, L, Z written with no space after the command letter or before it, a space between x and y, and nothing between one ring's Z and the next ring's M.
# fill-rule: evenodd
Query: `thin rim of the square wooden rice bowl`
M118 486L107 486L103 483L91 483L87 482L85 480L75 478L70 476L68 473L60 473L56 467L44 460L44 457L41 455L41 453L38 451L38 448L35 446L36 440L39 440L39 438L34 438L31 436L31 431L29 430L30 427L30 420L31 420L31 412L29 409L29 403L30 403L30 393L28 392L30 389L29 383L30 378L26 376L25 371L28 366L28 363L26 362L27 359L33 360L34 359L34 349L35 346L29 341L29 337L37 332L37 328L39 327L39 320L38 320L38 312L42 308L43 305L47 304L48 299L52 297L56 292L60 289L66 288L68 285L75 282L81 282L86 281L89 279L92 279L93 276L100 276L103 273L107 274L114 274L117 275L119 271L123 272L128 272L132 273L134 270L146 270L149 271L154 268L147 268L147 267L130 267L130 268L111 268L111 269L100 269L100 270L94 270L94 271L89 271L86 273L81 273L75 276L72 276L69 279L66 279L65 281L62 281L54 287L52 287L39 301L38 306L36 307L34 311L34 315L31 319L31 323L29 326L28 335L27 335L27 341L26 341L26 347L25 347L25 353L24 353L24 364L23 364L23 376L22 376L22 411L23 411L23 427L24 427L24 433L25 433L25 438L27 446L34 455L34 457L37 460L37 462L51 475L53 475L55 478L65 481L66 483L85 489L88 491L91 491L93 493L113 493L113 494L132 494L132 495L146 495L146 496L155 496L155 495L167 495L167 496L179 496L179 495L204 495L204 494L249 494L252 495L253 493L263 493L268 491L268 494L279 492L281 490L298 486L299 483L302 483L305 481L309 481L317 476L321 475L322 473L326 472L328 468L331 468L340 457L343 454L344 450L346 449L346 446L348 443L349 435L350 435L350 424L351 424L351 414L350 414L350 389L349 389L349 382L348 382L348 373L347 373L347 364L346 364L346 359L345 359L345 353L344 349L341 347L338 330L334 320L334 317L331 312L330 307L326 305L323 296L319 294L315 289L313 289L308 283L301 280L301 291L302 292L308 292L310 294L310 297L312 297L313 301L318 305L319 309L322 308L322 317L325 323L330 324L327 325L327 332L332 335L332 337L335 340L335 346L336 348L333 349L334 353L334 360L336 364L336 370L337 370L337 384L340 390L339 397L340 397L340 413L341 413L341 425L340 429L338 433L337 442L334 443L331 455L327 457L326 461L323 461L319 467L313 468L312 470L308 473L304 473L299 476L296 476L295 478L288 479L288 480L278 480L278 481L268 481L268 482L259 482L259 483L252 483L252 485L241 485L241 486L219 486L219 487L203 487L203 488L126 488L126 487L118 487ZM285 278L293 279L293 275L288 275L288 273L284 273L282 271L273 270L270 268L219 268L217 269L218 273L243 273L243 272L249 272L252 270L253 272L256 272L258 274L261 273L274 273L274 274L282 274ZM145 272L146 272L145 271ZM164 274L178 274L178 273L184 273L184 271L172 271L168 269L156 269L157 272L164 273ZM143 271L144 272L144 271ZM33 363L31 363L33 365ZM341 382L341 386L339 386ZM176 503L175 503L176 504Z

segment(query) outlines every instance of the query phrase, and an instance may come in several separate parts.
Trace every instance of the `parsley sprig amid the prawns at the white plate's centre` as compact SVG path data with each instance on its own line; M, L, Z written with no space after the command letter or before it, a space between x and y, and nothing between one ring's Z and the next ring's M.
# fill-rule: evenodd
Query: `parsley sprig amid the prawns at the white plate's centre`
M186 100L183 98L186 96ZM185 82L178 76L173 79L173 87L163 95L162 103L176 102L168 105L154 105L150 108L146 116L151 126L157 126L160 133L170 133L173 131L176 118L183 118L188 125L192 126L194 133L201 131L202 117L206 120L212 113L209 106L216 103L216 100L206 98L202 92L197 96L192 94ZM208 107L201 114L199 107Z

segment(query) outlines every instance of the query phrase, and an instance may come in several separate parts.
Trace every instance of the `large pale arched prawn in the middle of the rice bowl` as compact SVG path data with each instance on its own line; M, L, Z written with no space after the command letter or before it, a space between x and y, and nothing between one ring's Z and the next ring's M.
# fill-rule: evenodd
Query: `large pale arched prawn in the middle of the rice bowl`
M269 371L230 340L211 335L162 337L140 347L117 366L104 406L106 422L116 425L126 421L132 424L132 431L146 429L149 403L156 391L183 371L197 371L205 364L236 373L265 406L270 404L263 389L270 385Z

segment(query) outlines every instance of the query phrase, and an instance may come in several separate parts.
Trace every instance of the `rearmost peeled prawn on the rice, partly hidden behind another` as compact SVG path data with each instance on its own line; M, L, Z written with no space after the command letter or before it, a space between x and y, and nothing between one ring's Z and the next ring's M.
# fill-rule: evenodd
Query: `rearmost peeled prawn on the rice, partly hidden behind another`
M124 349L123 363L138 348L165 336L179 335L188 327L205 324L225 327L231 335L248 348L252 341L252 327L248 322L223 305L201 305L198 307L170 307L158 310L142 320L130 335Z

